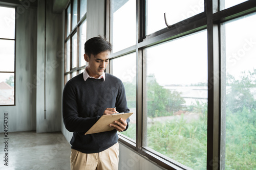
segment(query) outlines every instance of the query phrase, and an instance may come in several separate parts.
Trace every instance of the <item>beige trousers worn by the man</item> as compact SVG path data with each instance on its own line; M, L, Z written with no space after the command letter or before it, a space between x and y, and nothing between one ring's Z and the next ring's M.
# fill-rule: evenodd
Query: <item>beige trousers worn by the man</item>
M117 170L118 155L118 142L109 149L94 154L84 154L71 149L70 167L71 170Z

